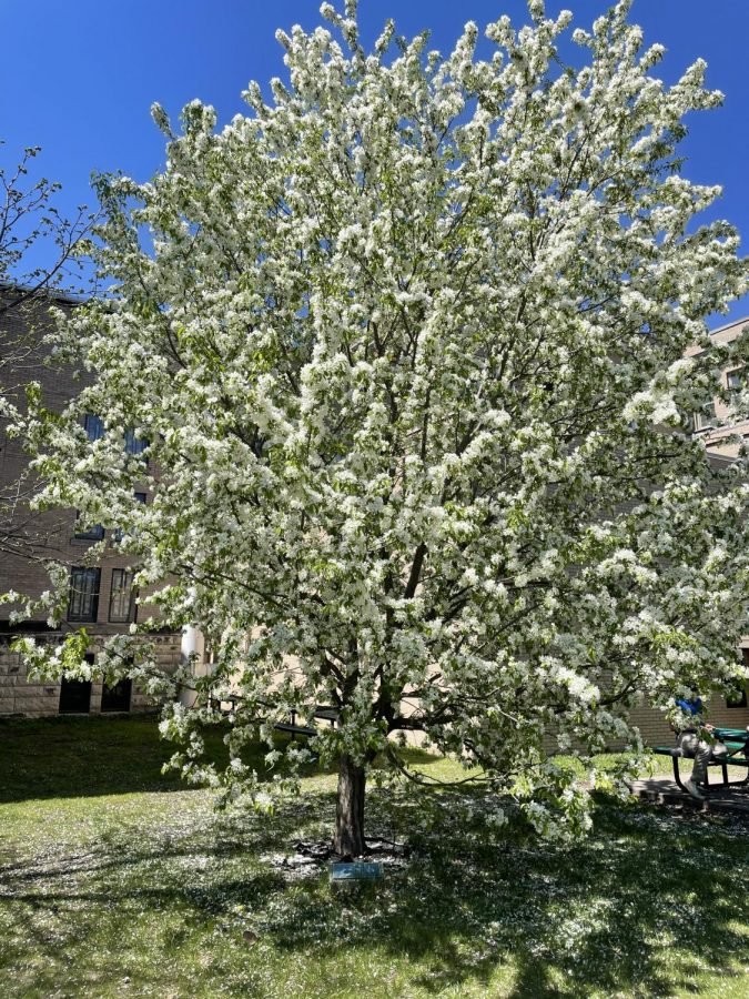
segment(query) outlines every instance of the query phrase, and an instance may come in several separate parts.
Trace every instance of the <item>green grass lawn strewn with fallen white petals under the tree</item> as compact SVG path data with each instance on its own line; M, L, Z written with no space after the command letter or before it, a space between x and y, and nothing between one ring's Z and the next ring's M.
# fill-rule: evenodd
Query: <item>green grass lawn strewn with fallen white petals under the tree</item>
M334 777L272 817L163 777L138 719L0 725L0 996L749 997L749 826L603 800L563 849L487 846L373 791L411 836L377 887L290 878L330 831ZM425 760L445 769L445 761Z

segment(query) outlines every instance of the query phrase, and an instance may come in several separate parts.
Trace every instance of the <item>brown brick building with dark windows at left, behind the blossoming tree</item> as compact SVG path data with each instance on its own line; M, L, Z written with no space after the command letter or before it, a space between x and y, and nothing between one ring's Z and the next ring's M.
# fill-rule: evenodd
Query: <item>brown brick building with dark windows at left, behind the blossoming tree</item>
M48 363L41 344L48 304L41 302L32 310L11 309L0 313L0 386L7 396L22 404L23 384L39 382L44 405L60 412L85 380L70 367ZM78 303L55 296L54 304L71 310ZM101 431L100 418L89 414L85 428L95 440ZM124 446L136 451L142 442L125 435ZM74 509L30 512L24 501L32 488L28 456L0 422L0 593L13 589L31 598L39 597L49 588L45 558L59 559L70 569L67 620L59 629L51 629L42 615L12 625L13 608L0 606L0 717L151 709L152 703L138 688L133 689L130 680L112 688L101 683L73 680L30 683L21 657L10 650L10 643L20 632L58 644L64 635L84 626L93 639L90 655L94 662L101 642L126 632L138 614L152 613L148 605L135 603L132 566L126 556L110 546L105 532L97 525L81 524ZM149 502L145 487L135 495L141 502ZM87 565L88 549L102 539L108 543L103 557L97 565ZM181 635L164 629L153 638L164 668L173 667L180 659Z

